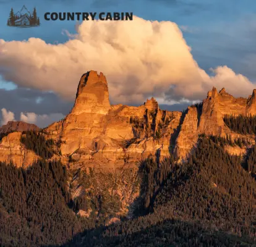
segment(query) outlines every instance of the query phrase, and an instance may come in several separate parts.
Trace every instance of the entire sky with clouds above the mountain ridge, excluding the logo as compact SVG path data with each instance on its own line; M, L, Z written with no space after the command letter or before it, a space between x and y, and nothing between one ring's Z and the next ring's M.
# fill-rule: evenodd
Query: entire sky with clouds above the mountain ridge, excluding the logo
M36 7L40 27L8 27ZM132 21L46 21L45 12L133 12ZM0 119L46 127L69 113L81 75L106 75L113 104L154 96L182 111L222 87L256 88L254 0L0 0Z

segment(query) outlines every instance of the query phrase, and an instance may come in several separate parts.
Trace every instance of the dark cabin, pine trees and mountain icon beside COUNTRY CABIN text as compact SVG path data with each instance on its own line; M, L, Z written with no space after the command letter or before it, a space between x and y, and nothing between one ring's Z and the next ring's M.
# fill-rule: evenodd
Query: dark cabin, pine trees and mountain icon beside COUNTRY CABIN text
M14 14L11 9L7 25L10 27L38 27L40 26L40 19L37 16L36 8L33 9L32 14L27 7L23 5L22 9Z

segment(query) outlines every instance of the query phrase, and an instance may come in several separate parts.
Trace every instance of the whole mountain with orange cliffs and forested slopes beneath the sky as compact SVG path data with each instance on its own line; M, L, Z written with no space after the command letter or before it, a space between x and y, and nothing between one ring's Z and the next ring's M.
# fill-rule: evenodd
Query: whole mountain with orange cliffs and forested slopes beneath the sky
M64 119L4 127L0 244L255 246L255 94L171 112L111 105L83 74Z

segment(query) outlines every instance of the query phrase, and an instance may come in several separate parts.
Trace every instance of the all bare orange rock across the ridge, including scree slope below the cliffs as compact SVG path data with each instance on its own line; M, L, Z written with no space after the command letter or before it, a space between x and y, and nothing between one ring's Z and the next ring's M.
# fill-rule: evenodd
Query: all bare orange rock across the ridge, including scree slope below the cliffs
M255 90L245 99L234 98L224 88L219 93L213 88L202 103L184 112L163 111L154 98L139 107L111 105L106 77L90 71L80 79L70 114L49 125L42 135L53 140L51 159L67 165L72 198L98 198L104 191L111 203L121 204L117 205L117 215L129 216L140 193L137 164L142 159L151 155L161 161L171 153L178 161L186 161L199 135L241 137L226 126L223 116L256 114L255 98ZM23 130L37 128L20 122L0 128L0 133L16 131L0 140L0 161L27 167L41 159L20 143ZM242 137L254 143L255 136ZM246 148L236 146L226 146L225 150L232 154L246 152ZM91 212L88 208L77 214L90 217Z

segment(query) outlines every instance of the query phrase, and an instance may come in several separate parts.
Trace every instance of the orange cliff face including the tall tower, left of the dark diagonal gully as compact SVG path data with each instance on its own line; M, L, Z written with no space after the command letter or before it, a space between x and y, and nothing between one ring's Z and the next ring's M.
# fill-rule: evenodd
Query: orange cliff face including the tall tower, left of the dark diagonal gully
M169 140L181 112L161 111L155 99L139 107L109 103L103 73L82 76L75 104L61 122L46 128L71 161L107 169L130 167L149 154L169 154Z

